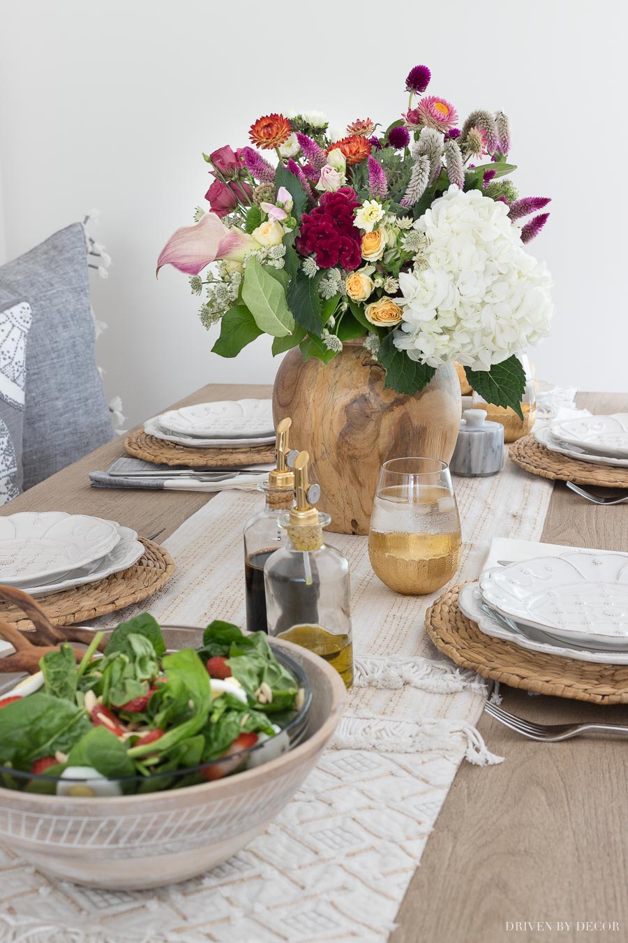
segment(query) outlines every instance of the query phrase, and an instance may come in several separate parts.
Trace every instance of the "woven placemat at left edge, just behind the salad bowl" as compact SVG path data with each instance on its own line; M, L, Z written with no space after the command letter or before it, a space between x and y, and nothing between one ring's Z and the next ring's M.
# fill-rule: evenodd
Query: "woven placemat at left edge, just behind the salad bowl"
M161 589L174 572L172 557L158 543L153 543L153 540L138 539L146 549L132 567L112 573L96 583L86 583L82 587L66 589L50 596L40 596L37 602L45 609L51 622L55 625L87 622L132 603L139 603ZM17 625L20 629L33 628L32 622L25 618L22 609L1 601L0 619Z

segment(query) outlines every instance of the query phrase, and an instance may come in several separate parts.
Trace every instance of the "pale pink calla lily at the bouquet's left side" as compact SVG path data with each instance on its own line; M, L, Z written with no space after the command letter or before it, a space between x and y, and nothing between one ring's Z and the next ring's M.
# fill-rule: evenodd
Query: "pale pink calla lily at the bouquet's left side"
M162 265L173 265L179 272L198 275L217 258L241 262L260 243L238 229L228 229L216 213L205 213L193 226L182 226L173 233L157 259L157 274Z

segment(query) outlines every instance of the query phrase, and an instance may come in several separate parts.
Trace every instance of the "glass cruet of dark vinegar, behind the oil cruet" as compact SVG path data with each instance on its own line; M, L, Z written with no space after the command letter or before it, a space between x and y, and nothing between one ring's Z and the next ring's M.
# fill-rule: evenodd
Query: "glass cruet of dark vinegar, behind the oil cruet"
M266 494L266 504L244 525L244 572L247 603L247 629L266 632L266 592L264 564L285 543L285 531L279 518L294 504L295 473L288 467L288 442L292 420L282 419L277 426L277 468L268 481L258 485ZM295 457L297 453L295 452Z

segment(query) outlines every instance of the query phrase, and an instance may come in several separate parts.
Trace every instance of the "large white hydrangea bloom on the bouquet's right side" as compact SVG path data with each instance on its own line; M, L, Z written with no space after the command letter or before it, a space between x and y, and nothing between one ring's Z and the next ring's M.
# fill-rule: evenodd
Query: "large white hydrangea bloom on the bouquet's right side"
M426 267L399 274L403 323L395 347L438 367L474 370L539 343L554 305L544 263L523 250L505 203L452 186L414 223Z

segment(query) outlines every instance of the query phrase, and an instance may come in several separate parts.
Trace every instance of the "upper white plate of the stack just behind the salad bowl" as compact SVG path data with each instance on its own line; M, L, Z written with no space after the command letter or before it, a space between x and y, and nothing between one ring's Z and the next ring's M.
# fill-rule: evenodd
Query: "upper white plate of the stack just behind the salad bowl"
M32 586L100 559L119 541L115 521L65 511L10 514L0 518L0 582Z

